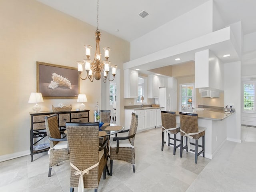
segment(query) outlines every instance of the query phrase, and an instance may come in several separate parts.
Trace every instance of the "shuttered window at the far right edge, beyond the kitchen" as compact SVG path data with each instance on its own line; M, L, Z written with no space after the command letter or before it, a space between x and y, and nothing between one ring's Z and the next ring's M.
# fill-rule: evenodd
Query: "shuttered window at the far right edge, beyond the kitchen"
M254 112L254 103L255 103L255 83L256 82L244 82L243 83L243 109L245 112Z

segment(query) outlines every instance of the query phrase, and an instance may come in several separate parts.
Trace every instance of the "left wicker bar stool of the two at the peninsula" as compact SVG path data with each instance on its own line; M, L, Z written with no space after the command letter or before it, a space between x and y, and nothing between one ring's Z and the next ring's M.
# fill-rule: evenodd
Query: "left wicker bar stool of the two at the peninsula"
M180 144L176 146L177 133L180 132L180 124L176 124L175 112L161 111L162 119L162 150L164 150L164 144L168 142L168 146L173 145L173 154L176 154L176 148L180 147ZM166 134L166 141L164 141L164 136ZM171 136L174 135L174 137ZM173 140L173 143L170 142Z

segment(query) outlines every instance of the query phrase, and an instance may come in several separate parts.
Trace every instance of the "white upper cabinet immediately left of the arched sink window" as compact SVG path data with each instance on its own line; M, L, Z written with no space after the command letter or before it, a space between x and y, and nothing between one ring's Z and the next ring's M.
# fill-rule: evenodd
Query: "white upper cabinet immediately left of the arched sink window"
M124 98L138 97L138 77L138 71L131 69L124 70Z

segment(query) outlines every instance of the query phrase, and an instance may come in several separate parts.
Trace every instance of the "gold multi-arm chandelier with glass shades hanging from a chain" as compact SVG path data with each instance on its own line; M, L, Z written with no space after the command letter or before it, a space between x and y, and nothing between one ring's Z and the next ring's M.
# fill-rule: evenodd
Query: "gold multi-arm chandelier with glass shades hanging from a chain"
M110 48L109 47L104 47L104 56L105 56L105 61L102 62L101 60L101 53L100 53L100 30L99 28L99 0L98 0L98 15L97 15L97 30L95 32L95 36L96 36L96 51L95 51L95 55L94 55L94 60L90 60L90 52L91 52L91 48L92 46L90 45L85 45L85 53L86 53L86 58L84 59L84 61L78 61L76 62L78 65L78 73L79 76L82 80L86 80L87 78L93 82L94 78L96 80L100 80L101 75L103 75L103 82L106 82L106 79L108 79L109 81L113 81L115 79L115 75L116 75L116 65L111 65L110 66L110 61L108 61L108 57L109 57L109 51ZM84 68L86 70L86 78L82 78L81 77L81 73L83 71L83 65ZM110 80L109 79L109 71L110 71L110 67L112 68L112 75L113 75L113 79Z

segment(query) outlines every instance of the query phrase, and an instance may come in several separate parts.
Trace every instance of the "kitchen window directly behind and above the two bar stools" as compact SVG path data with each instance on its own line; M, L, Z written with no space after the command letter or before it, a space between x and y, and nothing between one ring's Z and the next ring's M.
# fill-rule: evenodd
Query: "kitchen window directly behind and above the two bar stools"
M188 102L188 99L194 101L194 84L183 84L181 85L181 106L191 106L192 102Z

